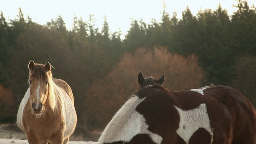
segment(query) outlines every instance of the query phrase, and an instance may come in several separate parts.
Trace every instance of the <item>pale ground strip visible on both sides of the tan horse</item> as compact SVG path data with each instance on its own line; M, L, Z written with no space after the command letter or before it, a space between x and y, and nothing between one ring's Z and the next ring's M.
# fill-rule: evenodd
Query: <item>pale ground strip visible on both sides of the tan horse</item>
M97 140L99 135L97 132L90 134L90 136L94 136L94 140ZM90 140L82 135L73 134L68 144L97 144L97 142ZM26 140L26 134L15 124L0 124L0 144L28 144L28 140Z

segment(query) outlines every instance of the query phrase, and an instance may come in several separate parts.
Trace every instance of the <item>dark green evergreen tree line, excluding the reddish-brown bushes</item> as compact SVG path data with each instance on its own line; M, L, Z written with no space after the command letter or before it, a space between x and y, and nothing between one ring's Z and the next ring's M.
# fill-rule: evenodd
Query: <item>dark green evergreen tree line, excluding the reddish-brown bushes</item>
M12 92L14 104L10 105L12 116L1 117L0 122L15 121L15 110L28 88L27 65L31 59L49 61L55 68L54 77L70 84L78 119L82 119L87 91L115 71L123 56L136 56L139 48L153 50L155 46L187 58L196 55L205 75L202 86L233 86L255 105L256 8L242 0L235 7L237 11L231 16L221 5L216 10L200 10L196 16L187 7L180 19L176 12L170 16L163 10L161 22L132 20L124 40L120 31L110 33L106 17L102 29L96 28L93 14L87 21L74 16L72 30L68 31L61 16L40 25L29 16L24 18L21 9L10 21L1 12L0 85ZM172 70L162 73L172 74ZM136 76L130 79L136 80ZM0 108L0 113L7 109ZM81 127L85 123L79 122Z

